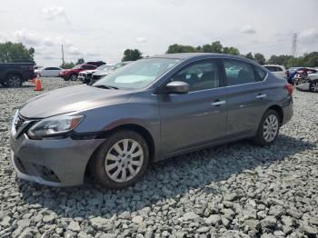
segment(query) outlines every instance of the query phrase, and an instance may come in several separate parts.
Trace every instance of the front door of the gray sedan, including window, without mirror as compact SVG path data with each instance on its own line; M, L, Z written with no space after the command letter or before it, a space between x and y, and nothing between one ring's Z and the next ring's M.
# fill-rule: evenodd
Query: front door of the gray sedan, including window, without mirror
M174 74L168 82L171 81L189 84L190 92L158 95L164 154L224 139L226 88L219 62L203 60L190 64Z

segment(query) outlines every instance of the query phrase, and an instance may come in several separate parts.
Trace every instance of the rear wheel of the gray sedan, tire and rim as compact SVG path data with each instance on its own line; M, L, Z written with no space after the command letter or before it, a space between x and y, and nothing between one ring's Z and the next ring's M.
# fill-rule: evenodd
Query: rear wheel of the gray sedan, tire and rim
M260 146L273 144L277 138L277 135L279 134L279 128L279 114L272 109L267 110L263 114L256 135L252 138L253 144Z

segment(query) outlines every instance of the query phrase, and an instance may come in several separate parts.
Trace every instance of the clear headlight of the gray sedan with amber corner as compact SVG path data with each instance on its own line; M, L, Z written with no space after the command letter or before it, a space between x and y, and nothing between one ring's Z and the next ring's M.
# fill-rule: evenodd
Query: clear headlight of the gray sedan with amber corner
M76 125L80 124L84 115L56 115L45 118L34 124L27 132L31 139L41 139L43 137L65 134L72 131Z

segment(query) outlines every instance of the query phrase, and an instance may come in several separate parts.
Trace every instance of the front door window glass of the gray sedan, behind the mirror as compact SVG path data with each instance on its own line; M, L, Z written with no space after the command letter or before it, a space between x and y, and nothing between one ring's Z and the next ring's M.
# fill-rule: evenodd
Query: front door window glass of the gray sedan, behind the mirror
M189 84L190 92L220 87L220 74L216 61L192 64L174 74L171 81Z

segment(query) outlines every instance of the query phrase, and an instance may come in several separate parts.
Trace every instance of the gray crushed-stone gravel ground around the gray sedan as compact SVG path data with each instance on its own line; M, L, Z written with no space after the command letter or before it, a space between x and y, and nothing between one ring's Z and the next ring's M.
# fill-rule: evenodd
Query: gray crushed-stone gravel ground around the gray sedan
M45 91L69 84L43 79ZM243 141L186 154L109 191L15 178L11 117L41 93L0 89L0 237L317 237L318 94L294 92L293 120L270 147Z

